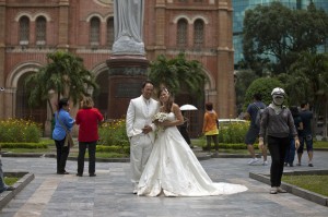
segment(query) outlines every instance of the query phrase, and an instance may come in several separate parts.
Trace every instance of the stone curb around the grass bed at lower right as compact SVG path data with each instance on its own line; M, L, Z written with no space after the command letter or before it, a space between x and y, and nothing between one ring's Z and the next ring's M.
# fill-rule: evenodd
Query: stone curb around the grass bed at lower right
M311 171L288 171L283 172L283 174L291 174L291 176L300 176L300 174L328 174L328 170L311 170ZM254 173L249 172L249 178L255 179L257 181L260 181L262 183L266 183L268 185L271 184L270 182L270 174L265 173ZM291 194L294 194L296 196L300 196L302 198L305 198L307 201L320 204L323 206L328 206L328 196L324 196L321 194L317 194L311 191L307 191L305 189L295 186L293 184L289 184L285 182L281 182L282 189L288 191Z

